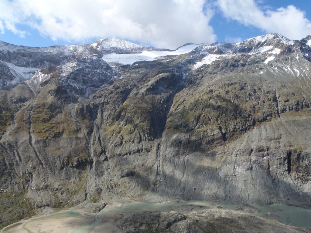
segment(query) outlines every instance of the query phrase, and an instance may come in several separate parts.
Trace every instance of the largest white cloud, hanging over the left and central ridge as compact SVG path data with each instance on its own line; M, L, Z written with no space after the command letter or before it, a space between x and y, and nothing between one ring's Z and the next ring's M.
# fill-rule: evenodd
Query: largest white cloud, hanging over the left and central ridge
M177 48L184 43L212 43L208 25L213 12L204 0L0 0L0 31L26 24L53 40L86 41L113 37Z

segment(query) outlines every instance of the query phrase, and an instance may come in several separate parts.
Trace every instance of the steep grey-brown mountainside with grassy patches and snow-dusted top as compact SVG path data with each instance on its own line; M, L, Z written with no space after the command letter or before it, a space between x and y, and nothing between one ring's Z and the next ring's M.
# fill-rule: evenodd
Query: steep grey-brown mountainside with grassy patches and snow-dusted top
M121 197L310 207L310 38L269 34L132 65L101 57L162 50L1 42L1 226Z

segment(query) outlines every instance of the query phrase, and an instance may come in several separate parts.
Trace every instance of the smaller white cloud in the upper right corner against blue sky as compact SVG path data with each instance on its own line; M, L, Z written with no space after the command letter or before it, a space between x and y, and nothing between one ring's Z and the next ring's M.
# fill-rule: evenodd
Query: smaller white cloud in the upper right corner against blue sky
M305 12L293 5L263 11L254 0L217 0L217 3L226 18L267 33L280 33L289 39L302 39L311 34L311 22Z

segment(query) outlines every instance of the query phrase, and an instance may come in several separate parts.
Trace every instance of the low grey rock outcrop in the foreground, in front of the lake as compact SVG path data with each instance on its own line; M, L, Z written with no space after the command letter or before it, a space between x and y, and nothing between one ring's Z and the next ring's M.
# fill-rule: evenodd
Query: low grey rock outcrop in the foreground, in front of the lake
M310 232L310 229L284 225L233 211L198 211L187 215L171 212L139 212L123 217L118 225L123 233L250 233Z

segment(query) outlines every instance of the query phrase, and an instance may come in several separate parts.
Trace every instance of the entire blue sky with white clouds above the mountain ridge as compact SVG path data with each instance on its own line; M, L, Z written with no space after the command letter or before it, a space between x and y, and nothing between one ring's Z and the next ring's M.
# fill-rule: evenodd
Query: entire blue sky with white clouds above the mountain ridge
M0 40L44 47L114 37L177 48L188 42L233 43L274 32L290 39L311 34L308 0L44 2L0 0Z

